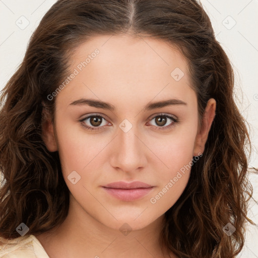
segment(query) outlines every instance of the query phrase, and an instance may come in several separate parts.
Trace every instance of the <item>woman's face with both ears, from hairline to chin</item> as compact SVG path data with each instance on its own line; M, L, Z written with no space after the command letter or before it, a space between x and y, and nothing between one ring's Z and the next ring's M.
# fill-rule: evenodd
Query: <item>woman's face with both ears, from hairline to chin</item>
M110 228L143 228L183 192L192 157L204 151L214 100L199 128L188 63L156 39L92 37L70 68L69 82L52 94L55 126L45 125L44 141L59 153L71 203ZM108 187L118 181L147 185Z

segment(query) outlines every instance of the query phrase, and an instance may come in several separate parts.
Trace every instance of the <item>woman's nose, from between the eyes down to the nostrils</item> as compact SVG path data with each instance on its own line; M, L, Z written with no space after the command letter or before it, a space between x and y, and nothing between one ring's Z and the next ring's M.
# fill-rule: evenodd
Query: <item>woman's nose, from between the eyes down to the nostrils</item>
M117 137L113 140L110 151L110 164L116 170L134 172L147 164L148 148L136 126L128 132L118 128Z

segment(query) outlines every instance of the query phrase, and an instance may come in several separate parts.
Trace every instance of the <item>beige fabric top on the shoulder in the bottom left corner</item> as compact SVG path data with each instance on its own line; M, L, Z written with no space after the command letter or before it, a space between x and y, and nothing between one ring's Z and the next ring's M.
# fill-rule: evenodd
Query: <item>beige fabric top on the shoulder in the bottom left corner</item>
M3 240L0 245L0 258L49 258L43 246L34 235L20 236Z

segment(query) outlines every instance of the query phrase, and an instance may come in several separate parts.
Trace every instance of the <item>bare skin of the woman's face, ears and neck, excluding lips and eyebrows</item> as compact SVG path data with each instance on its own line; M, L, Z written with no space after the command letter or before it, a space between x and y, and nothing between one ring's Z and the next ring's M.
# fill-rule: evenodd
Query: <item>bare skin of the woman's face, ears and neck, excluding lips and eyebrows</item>
M197 96L189 87L188 62L175 46L153 38L94 36L76 49L71 71L96 48L100 53L55 97L55 124L50 119L43 124L43 140L50 152L59 152L71 194L67 219L37 238L52 258L169 257L168 253L163 256L158 237L164 213L180 197L190 170L181 173L155 204L150 199L193 156L204 152L216 101L209 100L198 127ZM179 81L170 75L175 68L184 73ZM70 105L81 98L108 102L115 109ZM144 110L147 104L167 99L186 104ZM162 125L157 120L160 113L178 122L162 116L166 121ZM82 126L79 120L89 115L104 116L100 130ZM126 133L119 127L124 119L133 126ZM90 118L85 123L94 128ZM68 179L72 171L81 176L76 184ZM141 199L125 202L101 187L120 180L139 180L155 187ZM119 230L124 223L132 230L126 236ZM170 256L176 257L172 252Z

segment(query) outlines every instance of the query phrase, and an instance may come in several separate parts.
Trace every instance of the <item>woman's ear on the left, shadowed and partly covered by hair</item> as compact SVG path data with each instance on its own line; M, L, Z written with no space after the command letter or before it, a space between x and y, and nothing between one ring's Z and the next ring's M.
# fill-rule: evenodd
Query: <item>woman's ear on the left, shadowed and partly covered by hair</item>
M45 107L42 109L42 140L44 141L46 148L49 152L55 152L58 150L56 139L54 135L54 126L51 121L49 112Z

